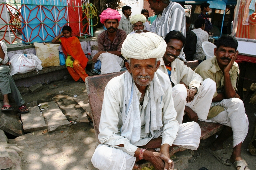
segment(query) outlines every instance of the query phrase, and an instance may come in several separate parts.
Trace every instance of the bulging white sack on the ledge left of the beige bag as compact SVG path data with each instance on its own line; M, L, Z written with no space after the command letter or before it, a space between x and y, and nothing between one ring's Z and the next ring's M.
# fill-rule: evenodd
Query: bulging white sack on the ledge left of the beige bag
M34 54L27 54L27 57L24 54L15 54L10 57L9 62L11 73L14 74L24 74L31 71L39 71L42 69L41 60L37 58Z

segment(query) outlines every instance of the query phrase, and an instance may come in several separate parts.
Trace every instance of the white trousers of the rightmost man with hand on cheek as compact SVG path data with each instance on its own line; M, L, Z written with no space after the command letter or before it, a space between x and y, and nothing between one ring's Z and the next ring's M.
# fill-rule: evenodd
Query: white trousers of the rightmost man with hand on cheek
M238 98L223 99L220 106L224 111L205 122L217 122L229 126L233 131L233 147L243 142L249 128L249 121L245 114L244 103Z

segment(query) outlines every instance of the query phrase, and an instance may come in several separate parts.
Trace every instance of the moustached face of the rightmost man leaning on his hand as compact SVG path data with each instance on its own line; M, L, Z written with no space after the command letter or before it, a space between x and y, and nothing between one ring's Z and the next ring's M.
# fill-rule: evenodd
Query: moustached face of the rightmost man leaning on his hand
M231 58L238 53L235 48L220 46L218 49L214 48L214 55L220 68L228 65Z

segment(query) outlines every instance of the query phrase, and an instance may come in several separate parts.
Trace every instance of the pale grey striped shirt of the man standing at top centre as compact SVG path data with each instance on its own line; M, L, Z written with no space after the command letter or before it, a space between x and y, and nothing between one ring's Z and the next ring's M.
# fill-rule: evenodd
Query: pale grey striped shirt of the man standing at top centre
M164 39L172 30L180 31L186 36L185 10L180 4L170 1L163 13L156 17L155 33Z

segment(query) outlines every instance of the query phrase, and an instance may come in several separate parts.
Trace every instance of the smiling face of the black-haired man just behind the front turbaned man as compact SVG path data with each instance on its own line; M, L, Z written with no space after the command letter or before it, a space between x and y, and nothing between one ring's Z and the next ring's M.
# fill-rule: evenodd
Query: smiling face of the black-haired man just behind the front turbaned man
M163 59L168 62L174 61L180 55L182 46L183 43L181 40L171 39L170 42L167 43Z

